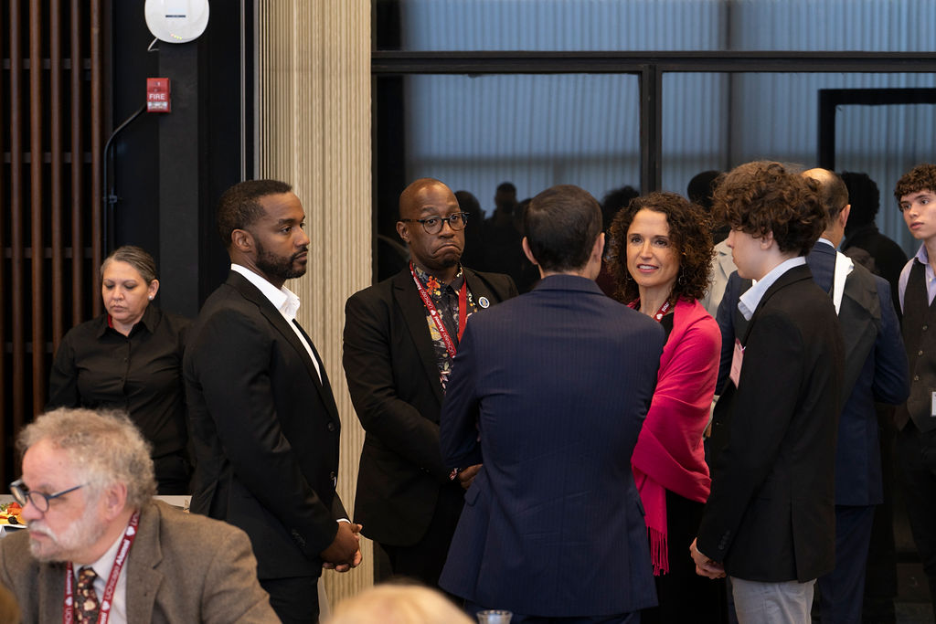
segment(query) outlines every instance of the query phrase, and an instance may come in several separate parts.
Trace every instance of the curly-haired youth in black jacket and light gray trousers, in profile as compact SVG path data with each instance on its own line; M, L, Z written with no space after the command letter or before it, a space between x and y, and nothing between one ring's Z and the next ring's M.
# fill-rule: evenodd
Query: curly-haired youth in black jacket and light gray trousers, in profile
M742 624L805 623L835 563L844 347L803 257L826 213L813 181L768 162L733 169L714 203L740 277L757 283L739 298L749 324L719 400L727 441L691 551L697 572L731 576Z

